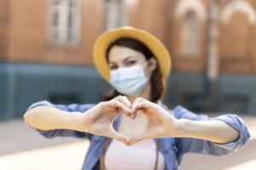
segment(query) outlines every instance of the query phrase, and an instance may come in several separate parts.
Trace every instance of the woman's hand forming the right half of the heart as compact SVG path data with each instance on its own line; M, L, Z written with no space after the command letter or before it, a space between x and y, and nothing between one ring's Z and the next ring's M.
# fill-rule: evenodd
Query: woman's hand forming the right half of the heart
M129 140L129 145L150 138L178 137L178 120L172 113L164 110L160 105L147 99L137 98L131 106L131 118L142 112L148 118L148 128L144 133Z

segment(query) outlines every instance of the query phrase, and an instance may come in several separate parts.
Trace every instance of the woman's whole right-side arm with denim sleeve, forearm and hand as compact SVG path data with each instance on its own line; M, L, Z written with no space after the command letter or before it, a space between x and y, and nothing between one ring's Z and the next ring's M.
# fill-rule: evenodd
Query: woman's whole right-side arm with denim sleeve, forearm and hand
M148 128L130 139L129 144L148 138L176 138L180 154L194 152L220 156L241 148L250 138L246 123L236 115L209 118L181 106L169 111L142 98L133 103L131 116L136 117L137 111L148 117Z

